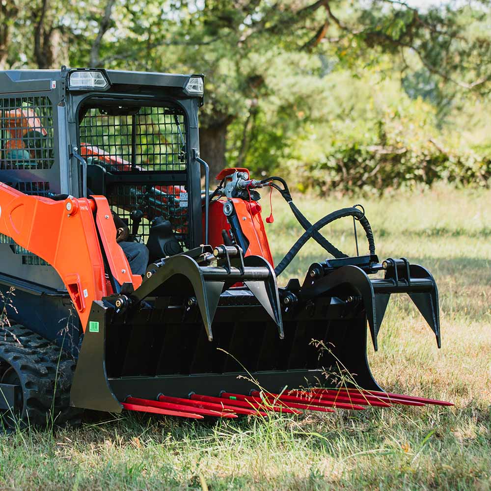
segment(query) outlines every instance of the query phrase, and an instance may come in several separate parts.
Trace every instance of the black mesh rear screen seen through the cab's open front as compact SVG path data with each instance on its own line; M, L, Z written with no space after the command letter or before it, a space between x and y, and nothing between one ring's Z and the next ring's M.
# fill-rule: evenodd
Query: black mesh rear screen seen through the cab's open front
M109 172L185 171L184 121L184 113L170 107L89 108L80 122L81 155L87 164L102 165ZM189 247L184 186L162 178L152 179L151 185L125 181L107 184L106 197L137 241L146 243L151 220L162 216L172 223L181 246ZM132 213L138 211L143 218L134 230Z

